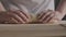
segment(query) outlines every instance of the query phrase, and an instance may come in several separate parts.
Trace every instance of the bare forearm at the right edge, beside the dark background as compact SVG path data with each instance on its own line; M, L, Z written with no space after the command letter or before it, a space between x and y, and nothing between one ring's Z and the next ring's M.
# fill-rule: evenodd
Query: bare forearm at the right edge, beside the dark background
M66 14L66 0L61 0L59 5L57 7L56 11L59 11L61 13L61 18L64 17ZM58 16L58 15L57 15Z

